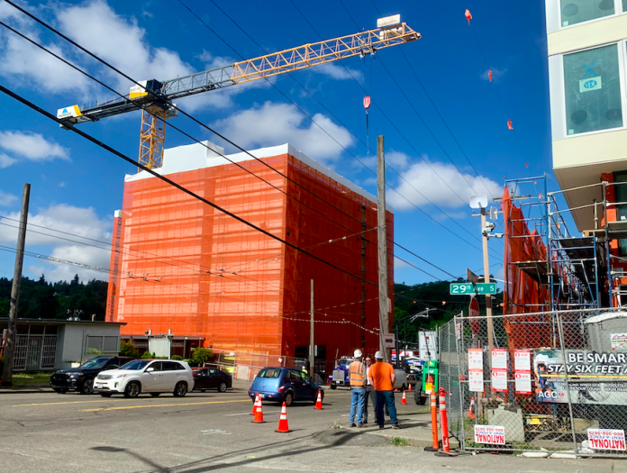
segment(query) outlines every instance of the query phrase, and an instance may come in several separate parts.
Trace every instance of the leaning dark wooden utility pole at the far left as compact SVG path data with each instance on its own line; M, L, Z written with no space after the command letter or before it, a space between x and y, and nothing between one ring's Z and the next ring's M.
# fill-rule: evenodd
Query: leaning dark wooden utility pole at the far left
M31 185L24 183L22 196L22 213L20 229L17 233L17 249L15 251L14 280L11 286L11 307L5 341L5 368L2 373L2 386L13 386L13 367L15 355L15 325L17 324L17 307L20 303L20 285L22 283L22 266L24 262L24 245L26 242L26 223L28 222L28 203L31 197Z

